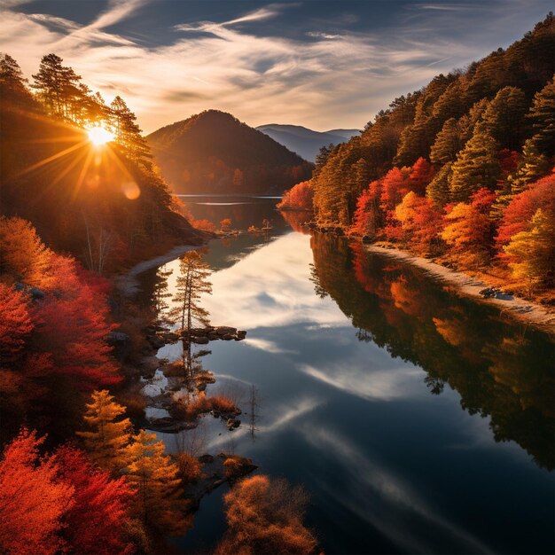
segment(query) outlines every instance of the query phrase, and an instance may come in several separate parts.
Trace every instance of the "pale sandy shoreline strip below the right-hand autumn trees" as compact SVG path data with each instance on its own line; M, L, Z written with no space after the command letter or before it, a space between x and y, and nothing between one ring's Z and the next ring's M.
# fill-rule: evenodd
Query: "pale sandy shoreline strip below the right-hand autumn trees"
M551 338L555 337L555 313L548 311L536 302L526 301L515 296L512 296L510 299L485 298L480 294L480 291L492 285L481 278L472 277L462 271L445 268L436 262L401 249L376 245L364 245L364 248L367 252L383 254L426 270L431 277L446 282L449 285L455 285L458 293L501 309L502 313L508 314L526 324L534 325L550 335Z

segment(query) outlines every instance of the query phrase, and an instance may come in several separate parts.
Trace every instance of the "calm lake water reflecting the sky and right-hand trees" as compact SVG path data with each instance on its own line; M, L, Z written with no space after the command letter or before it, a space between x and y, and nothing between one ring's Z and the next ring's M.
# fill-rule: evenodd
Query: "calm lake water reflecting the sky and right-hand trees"
M213 241L210 343L218 390L257 430L208 417L204 451L251 457L309 491L307 523L326 553L551 553L554 356L539 332L461 299L418 269L341 238L303 234L273 199L187 198L198 218L268 235ZM292 227L293 226L293 227ZM163 271L169 290L178 261ZM143 276L144 298L160 280ZM160 349L176 358L179 346ZM184 432L191 434L191 432ZM159 434L168 450L176 438ZM209 550L225 528L223 489L176 545Z

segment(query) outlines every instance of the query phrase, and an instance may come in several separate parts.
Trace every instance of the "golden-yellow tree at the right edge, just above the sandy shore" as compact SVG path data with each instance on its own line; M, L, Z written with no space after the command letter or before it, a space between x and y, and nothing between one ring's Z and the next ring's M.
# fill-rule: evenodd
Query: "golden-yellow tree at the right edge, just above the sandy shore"
M512 258L512 275L533 284L550 283L555 277L555 223L553 214L542 208L535 211L527 231L520 231L504 246Z

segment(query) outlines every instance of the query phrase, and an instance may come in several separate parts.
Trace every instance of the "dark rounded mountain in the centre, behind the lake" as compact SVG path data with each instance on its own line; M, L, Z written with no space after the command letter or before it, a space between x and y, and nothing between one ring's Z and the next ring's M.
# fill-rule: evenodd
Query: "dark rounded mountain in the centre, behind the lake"
M268 135L218 110L146 137L178 193L280 193L309 179L312 165Z

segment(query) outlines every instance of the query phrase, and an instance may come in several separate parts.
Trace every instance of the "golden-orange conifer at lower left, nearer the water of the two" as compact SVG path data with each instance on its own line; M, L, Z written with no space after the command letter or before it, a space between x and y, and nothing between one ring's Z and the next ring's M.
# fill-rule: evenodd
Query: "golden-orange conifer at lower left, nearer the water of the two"
M128 480L137 489L138 512L145 524L178 534L187 522L180 496L179 467L165 454L155 434L141 430L126 449Z

